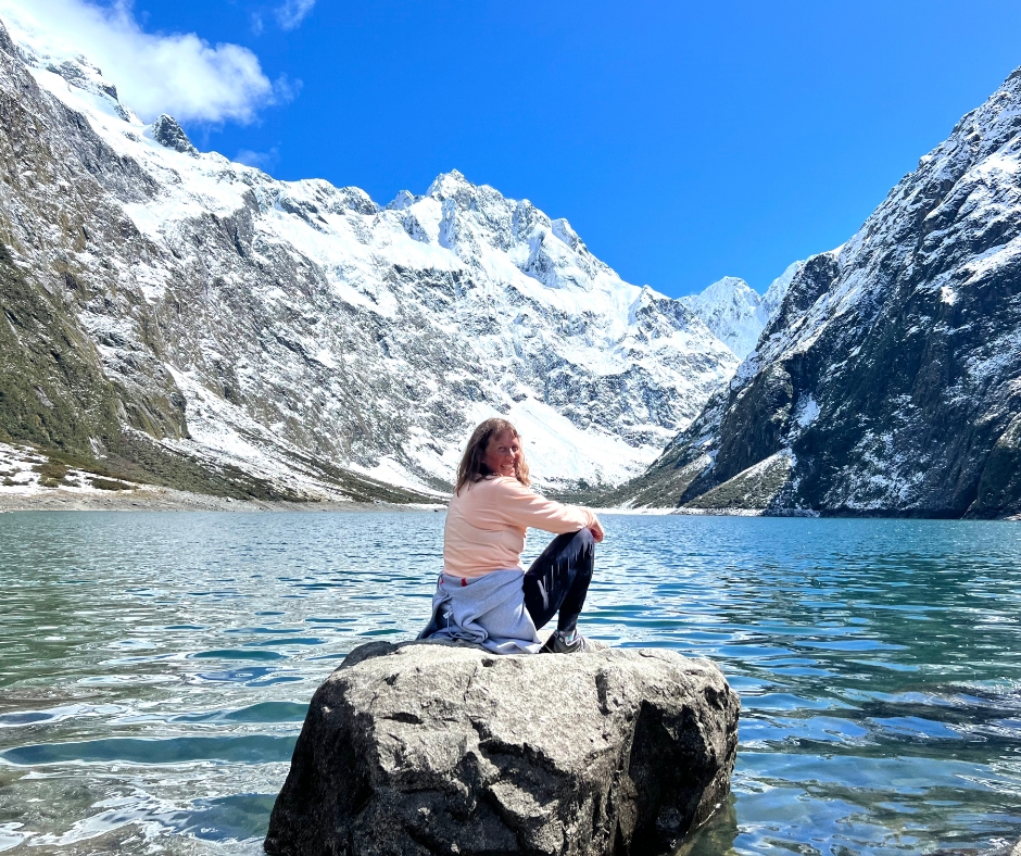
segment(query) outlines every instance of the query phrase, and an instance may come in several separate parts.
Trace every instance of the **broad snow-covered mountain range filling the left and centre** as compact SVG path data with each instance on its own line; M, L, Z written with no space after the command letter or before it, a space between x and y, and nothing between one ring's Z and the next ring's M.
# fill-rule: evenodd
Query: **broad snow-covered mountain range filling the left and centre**
M361 495L444 489L470 426L503 414L544 483L605 484L738 365L684 303L622 281L527 200L456 171L386 206L278 181L199 152L169 116L144 125L86 59L15 35L9 437L175 483Z

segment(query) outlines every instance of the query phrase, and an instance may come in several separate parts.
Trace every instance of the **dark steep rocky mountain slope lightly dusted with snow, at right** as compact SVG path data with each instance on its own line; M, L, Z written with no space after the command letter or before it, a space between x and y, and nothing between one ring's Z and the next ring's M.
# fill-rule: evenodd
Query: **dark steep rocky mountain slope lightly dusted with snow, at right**
M802 266L729 387L618 496L1021 513L1021 70Z

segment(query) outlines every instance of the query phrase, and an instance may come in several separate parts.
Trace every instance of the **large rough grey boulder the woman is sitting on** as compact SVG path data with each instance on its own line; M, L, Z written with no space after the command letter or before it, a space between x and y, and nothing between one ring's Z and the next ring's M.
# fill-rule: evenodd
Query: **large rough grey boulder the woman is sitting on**
M671 651L353 651L316 692L265 847L287 856L655 854L723 800L740 701Z

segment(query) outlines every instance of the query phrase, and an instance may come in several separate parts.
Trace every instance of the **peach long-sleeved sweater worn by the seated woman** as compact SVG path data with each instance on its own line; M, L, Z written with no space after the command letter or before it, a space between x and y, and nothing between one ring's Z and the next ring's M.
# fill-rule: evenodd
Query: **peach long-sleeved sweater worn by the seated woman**
M466 484L446 511L443 572L470 579L493 570L525 570L521 551L528 527L562 534L595 521L588 508L547 500L506 476Z

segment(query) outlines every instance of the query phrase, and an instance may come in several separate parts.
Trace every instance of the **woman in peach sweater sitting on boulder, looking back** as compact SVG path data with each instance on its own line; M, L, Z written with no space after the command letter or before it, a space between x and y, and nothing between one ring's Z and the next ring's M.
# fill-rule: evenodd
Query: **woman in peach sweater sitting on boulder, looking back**
M506 419L478 426L457 469L443 574L419 639L463 640L497 654L594 650L577 626L603 527L588 508L546 500L530 483L514 426ZM557 537L526 571L528 527ZM556 631L542 644L537 629L557 612Z

